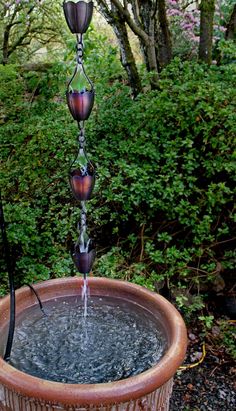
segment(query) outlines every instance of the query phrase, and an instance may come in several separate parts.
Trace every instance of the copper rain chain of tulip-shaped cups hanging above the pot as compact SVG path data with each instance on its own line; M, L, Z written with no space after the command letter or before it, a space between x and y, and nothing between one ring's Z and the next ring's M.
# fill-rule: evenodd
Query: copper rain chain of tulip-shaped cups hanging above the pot
M95 183L95 168L89 161L85 150L84 122L88 120L92 111L95 93L93 83L87 76L83 65L83 34L87 31L92 19L93 2L64 0L63 9L68 27L73 34L76 34L77 39L76 69L68 84L66 97L70 113L78 122L79 151L72 163L69 179L75 199L81 202L79 238L74 246L73 258L78 271L84 275L86 280L95 259L95 248L87 234L86 210L86 201L90 199Z

